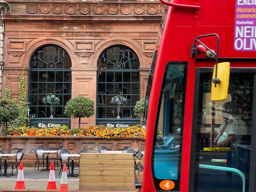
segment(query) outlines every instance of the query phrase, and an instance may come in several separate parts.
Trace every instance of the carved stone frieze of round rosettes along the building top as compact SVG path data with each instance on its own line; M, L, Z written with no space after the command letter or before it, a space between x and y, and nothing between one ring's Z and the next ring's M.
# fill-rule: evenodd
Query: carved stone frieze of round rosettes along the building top
M29 2L27 14L37 15L162 15L165 5L160 2L57 3Z

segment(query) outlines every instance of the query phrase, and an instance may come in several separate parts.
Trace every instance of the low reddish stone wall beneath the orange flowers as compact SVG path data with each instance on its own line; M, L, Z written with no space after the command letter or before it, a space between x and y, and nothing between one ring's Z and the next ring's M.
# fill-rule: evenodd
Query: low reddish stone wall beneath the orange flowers
M100 146L115 151L129 146L138 151L144 146L144 139L141 137L112 137L108 139L96 136L0 136L3 153L16 153L19 148L24 148L23 166L35 164L34 149L39 145L46 150L56 150L59 146L64 146L70 153L79 153L82 149L87 149L90 153L98 153ZM49 158L51 157L56 157L56 153L49 154ZM12 157L9 159L11 160Z

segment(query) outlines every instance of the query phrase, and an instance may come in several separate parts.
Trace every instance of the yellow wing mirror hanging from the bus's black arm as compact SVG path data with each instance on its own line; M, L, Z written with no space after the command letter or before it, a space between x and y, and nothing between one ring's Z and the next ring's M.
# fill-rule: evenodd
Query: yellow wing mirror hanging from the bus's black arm
M220 82L218 84L215 84L212 81L212 101L222 101L227 99L229 72L230 72L229 62L218 63L217 78L220 80ZM216 74L216 65L214 65L212 80L215 78L215 74Z

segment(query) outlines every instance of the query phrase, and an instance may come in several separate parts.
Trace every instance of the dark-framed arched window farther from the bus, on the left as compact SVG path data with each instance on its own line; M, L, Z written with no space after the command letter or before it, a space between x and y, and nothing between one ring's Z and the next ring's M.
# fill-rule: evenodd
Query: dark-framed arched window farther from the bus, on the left
M31 118L64 118L71 99L71 59L57 45L40 47L30 60L28 102Z

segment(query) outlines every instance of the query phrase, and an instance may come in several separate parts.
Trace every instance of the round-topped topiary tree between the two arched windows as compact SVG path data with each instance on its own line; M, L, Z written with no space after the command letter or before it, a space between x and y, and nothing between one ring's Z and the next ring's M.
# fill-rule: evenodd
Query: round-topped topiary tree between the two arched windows
M67 102L64 114L79 118L78 128L80 129L81 118L88 118L95 114L94 101L79 95Z

